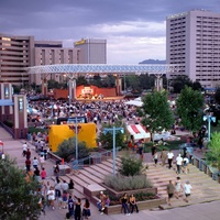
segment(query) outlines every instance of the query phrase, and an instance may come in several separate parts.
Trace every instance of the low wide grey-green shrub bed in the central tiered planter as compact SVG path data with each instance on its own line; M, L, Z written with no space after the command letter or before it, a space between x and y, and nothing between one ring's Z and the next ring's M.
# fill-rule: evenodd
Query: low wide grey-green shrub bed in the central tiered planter
M109 175L106 176L103 183L117 191L152 188L152 183L144 174L138 176L122 176L120 174L116 176Z

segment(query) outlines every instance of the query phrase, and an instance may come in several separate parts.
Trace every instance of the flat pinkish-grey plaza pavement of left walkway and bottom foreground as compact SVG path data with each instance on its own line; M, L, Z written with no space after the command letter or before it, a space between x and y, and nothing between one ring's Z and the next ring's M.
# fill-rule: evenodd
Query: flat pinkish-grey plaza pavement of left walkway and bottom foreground
M3 141L3 150L7 154L10 155L12 158L16 158L18 165L21 168L24 168L24 161L25 158L22 156L22 144L25 140L13 140L8 132L6 132L2 128L0 128L0 140ZM29 146L32 152L32 158L37 156L34 151L34 147L29 143ZM150 155L144 155L144 158L147 161L151 158ZM51 179L52 175L52 167L54 162L47 160L45 168L48 174L47 180L53 182ZM75 183L77 184L77 183ZM217 191L219 194L219 191ZM82 201L84 202L84 201ZM219 220L220 216L220 201L212 201L208 204L198 204L191 205L183 208L174 208L168 210L143 210L139 213L132 213L131 216L124 215L99 215L97 208L91 205L91 217L92 220L123 220L123 219L131 219L131 220L143 220L143 219L151 219L151 220ZM67 212L66 209L55 209L52 210L46 208L46 216L41 216L40 220L63 220L65 219L65 213Z

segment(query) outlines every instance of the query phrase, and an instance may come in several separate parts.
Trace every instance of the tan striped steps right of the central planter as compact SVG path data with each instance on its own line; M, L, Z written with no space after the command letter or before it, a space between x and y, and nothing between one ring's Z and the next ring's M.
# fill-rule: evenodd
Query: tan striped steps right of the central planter
M175 168L176 165L173 166L173 169L168 169L165 166L162 167L161 165L157 165L157 167L155 167L153 163L148 164L146 175L151 179L153 185L157 187L158 196L167 198L166 186L170 179L175 182L177 176L182 178L183 185L186 183L186 180L189 180L193 187L189 202L183 200L185 198L183 194L179 199L173 198L172 206L162 205L160 207L161 209L169 209L193 204L220 200L220 195L218 194L218 191L220 190L220 184L218 184L218 182L210 178L204 172L200 172L194 165L189 165L189 174L177 175Z

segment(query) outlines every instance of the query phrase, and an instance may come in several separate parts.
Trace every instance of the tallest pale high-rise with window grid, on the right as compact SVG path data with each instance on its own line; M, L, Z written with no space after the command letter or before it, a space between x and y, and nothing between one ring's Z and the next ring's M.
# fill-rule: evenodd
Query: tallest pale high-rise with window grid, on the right
M178 64L170 77L187 75L204 87L220 84L220 13L191 10L166 19L166 61Z

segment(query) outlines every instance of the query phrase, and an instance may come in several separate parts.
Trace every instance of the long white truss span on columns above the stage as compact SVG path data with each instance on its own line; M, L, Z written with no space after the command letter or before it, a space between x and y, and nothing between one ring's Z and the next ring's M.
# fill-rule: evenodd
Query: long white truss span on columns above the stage
M55 64L45 66L33 66L28 67L29 74L41 74L46 80L48 74L65 74L69 79L69 97L72 99L72 91L74 96L76 94L76 78L78 76L88 76L92 74L116 75L117 76L117 94L121 90L121 78L120 76L125 75L141 75L141 74L153 74L157 80L155 85L160 85L161 77L169 73L178 72L177 65L172 64L138 64L138 65L111 65L111 64ZM46 85L44 81L42 85ZM157 86L156 86L157 87ZM47 88L46 88L47 89ZM45 88L43 89L43 91ZM72 91L70 91L72 90ZM45 92L44 92L45 94ZM75 97L73 97L75 98Z

